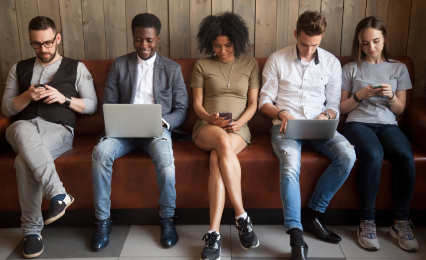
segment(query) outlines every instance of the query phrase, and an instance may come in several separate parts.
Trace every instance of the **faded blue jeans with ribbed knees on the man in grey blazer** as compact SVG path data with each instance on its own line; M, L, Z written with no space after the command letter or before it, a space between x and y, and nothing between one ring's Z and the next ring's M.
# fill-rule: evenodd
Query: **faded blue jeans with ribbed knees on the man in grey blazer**
M111 138L103 137L93 149L92 179L97 219L107 219L111 209L111 176L115 159L135 149L147 152L155 164L160 197L160 216L169 218L176 208L174 188L174 157L170 132L164 130L161 137L154 138ZM135 172L135 174L137 174Z

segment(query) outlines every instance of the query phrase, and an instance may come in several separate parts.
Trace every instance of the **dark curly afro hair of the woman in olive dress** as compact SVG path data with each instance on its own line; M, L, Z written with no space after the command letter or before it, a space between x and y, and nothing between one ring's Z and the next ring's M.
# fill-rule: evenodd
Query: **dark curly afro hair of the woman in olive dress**
M245 53L250 45L249 29L244 19L231 12L205 17L197 34L200 53L213 56L213 41L217 36L227 36L234 45L235 56Z

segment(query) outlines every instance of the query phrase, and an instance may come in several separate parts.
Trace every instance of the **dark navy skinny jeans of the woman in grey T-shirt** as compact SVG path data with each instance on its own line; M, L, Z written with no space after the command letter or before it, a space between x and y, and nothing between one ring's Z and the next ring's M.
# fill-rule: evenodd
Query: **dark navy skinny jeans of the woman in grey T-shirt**
M395 219L408 220L416 180L413 150L397 125L349 122L343 134L355 145L359 158L357 172L361 219L374 220L374 205L380 185L383 157L394 165L392 189Z

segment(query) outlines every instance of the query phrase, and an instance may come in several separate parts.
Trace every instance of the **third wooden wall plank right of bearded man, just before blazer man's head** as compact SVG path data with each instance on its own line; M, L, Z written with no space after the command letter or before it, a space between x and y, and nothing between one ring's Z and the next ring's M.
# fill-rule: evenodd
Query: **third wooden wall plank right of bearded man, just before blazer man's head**
M104 0L107 58L128 53L125 0Z

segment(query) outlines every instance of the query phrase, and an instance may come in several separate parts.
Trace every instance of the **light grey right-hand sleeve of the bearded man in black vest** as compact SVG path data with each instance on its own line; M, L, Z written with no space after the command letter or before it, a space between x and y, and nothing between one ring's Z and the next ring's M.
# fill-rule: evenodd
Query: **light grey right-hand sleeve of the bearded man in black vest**
M81 114L95 114L98 110L98 98L96 97L93 78L82 62L79 62L77 66L76 88L78 96L85 104L84 111Z

